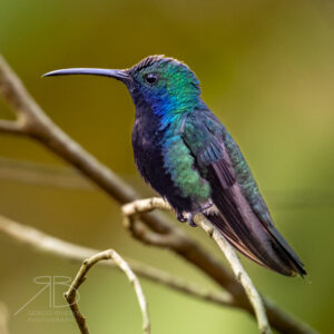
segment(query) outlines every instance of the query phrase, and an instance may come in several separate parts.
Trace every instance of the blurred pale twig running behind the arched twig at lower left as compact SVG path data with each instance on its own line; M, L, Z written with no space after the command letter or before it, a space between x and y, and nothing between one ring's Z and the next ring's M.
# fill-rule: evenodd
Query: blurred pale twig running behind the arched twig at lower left
M12 240L31 247L41 254L48 254L62 259L70 259L79 263L82 263L85 258L90 257L99 252L98 249L87 248L65 242L33 227L19 224L3 216L0 216L0 233L3 233ZM220 306L234 306L233 297L227 293L208 291L195 283L173 276L164 271L138 263L134 259L127 258L127 263L138 276L149 279L150 282L161 284L177 292L206 302L215 303ZM101 262L99 265L119 269L119 267L117 267L112 261Z

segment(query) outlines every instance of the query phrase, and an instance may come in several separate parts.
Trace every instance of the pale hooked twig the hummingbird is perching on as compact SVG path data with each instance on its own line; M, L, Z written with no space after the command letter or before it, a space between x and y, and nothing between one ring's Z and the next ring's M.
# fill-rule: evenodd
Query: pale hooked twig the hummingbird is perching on
M149 239L151 244L155 244L156 242L158 246L161 246L161 240L155 236L155 233L148 229L141 229L140 233L138 233L135 229L136 224L134 216L141 213L150 212L155 208L171 210L171 207L163 198L148 198L143 200L136 200L134 203L129 203L122 206L122 214L127 217L128 222L130 222L128 227L131 229L132 234L136 234L138 238L141 238L145 242ZM226 256L230 267L234 271L235 277L238 282L240 282L243 287L245 288L248 299L253 305L259 332L263 334L272 333L262 297L256 291L254 284L252 283L252 279L243 268L235 250L227 243L224 236L220 233L218 233L217 229L203 215L196 215L195 223L198 226L200 226L216 242L216 244L219 246L219 248ZM154 235L154 237L151 235ZM164 237L168 238L168 235L163 237L160 236L160 238ZM165 242L164 245L168 245L168 242Z

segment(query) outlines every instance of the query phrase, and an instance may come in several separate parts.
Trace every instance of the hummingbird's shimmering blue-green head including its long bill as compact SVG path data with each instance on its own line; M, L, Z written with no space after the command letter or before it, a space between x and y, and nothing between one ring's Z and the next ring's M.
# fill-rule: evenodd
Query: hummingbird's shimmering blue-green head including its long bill
M95 75L122 81L136 106L150 106L157 115L179 114L198 104L199 81L188 66L164 56L150 56L129 69L70 68L45 75Z

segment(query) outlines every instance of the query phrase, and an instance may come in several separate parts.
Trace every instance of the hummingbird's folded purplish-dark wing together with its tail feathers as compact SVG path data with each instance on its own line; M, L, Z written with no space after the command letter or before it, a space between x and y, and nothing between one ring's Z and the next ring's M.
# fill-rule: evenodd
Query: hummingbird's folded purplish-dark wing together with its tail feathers
M275 228L261 195L247 200L243 194L224 135L223 125L210 111L194 111L184 125L183 138L209 181L212 199L219 210L207 214L207 218L256 263L284 275L305 275L301 259Z

